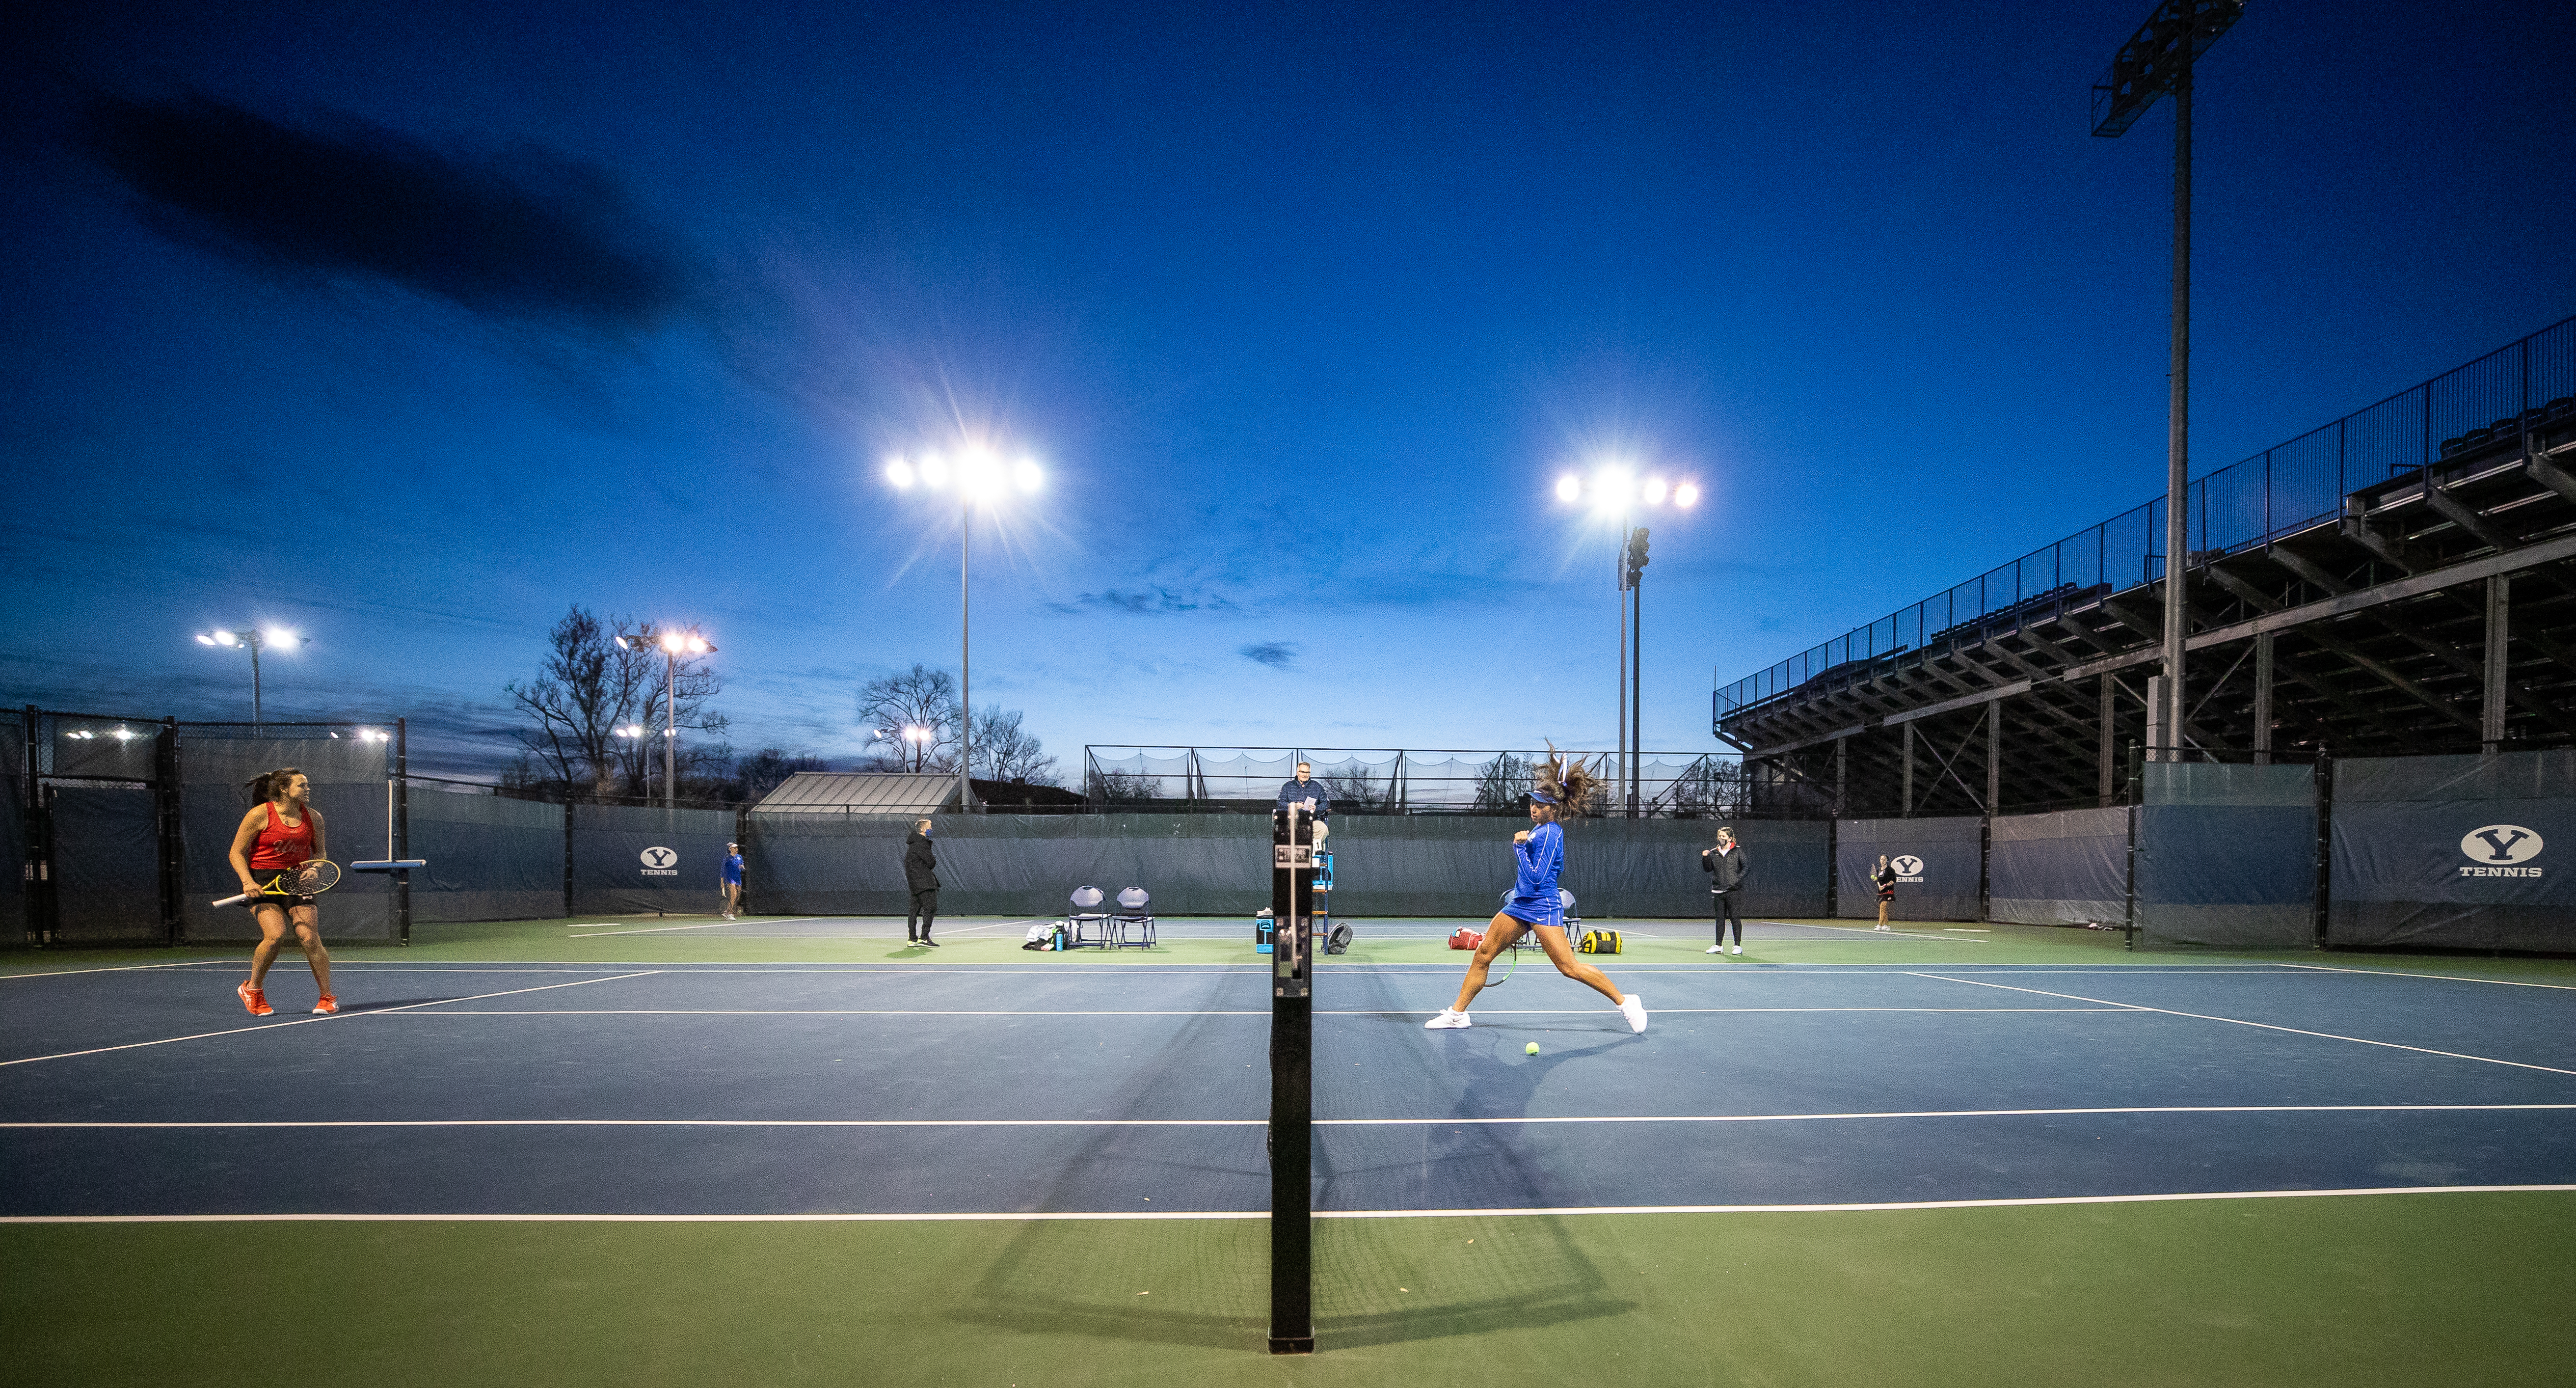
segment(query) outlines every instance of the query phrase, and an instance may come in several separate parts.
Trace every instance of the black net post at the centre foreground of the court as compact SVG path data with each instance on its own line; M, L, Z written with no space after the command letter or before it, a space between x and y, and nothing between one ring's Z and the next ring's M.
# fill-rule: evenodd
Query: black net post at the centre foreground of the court
M1270 1352L1314 1355L1314 814L1270 811Z

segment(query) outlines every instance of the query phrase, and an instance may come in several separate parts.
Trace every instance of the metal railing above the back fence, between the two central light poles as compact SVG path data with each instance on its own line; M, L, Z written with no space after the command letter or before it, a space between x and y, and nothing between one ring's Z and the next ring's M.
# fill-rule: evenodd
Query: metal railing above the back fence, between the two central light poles
M1334 814L1520 814L1546 749L1399 747L1084 747L1082 793L1097 809L1267 809L1298 762L1332 793ZM1613 752L1569 752L1613 775ZM1651 819L1749 814L1734 752L1646 752L1641 806ZM1592 814L1615 814L1607 803Z

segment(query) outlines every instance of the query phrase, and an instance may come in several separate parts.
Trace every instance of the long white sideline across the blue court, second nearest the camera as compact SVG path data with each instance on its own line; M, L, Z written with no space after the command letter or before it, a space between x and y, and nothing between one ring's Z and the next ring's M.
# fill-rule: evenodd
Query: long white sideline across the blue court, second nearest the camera
M2128 1107L1955 1107L1880 1112L1646 1112L1564 1118L1316 1118L1316 1128L1517 1128L1582 1123L1868 1123L1909 1118L2120 1118L2156 1112L2568 1112L2571 1105L2128 1105ZM160 1128L1267 1128L1267 1118L278 1118L204 1123L0 1123L0 1130L160 1130Z

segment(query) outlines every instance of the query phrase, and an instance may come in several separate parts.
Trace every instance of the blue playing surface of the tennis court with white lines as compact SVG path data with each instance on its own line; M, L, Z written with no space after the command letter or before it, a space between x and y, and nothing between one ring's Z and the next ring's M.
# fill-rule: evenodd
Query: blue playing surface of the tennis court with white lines
M592 930L636 924L567 935ZM1643 1035L1535 958L1455 1033L1422 1030L1455 958L1324 961L1319 1213L2576 1187L2566 984L1698 958L1605 961ZM0 979L0 1215L1267 1208L1255 961L371 953L340 966L340 1017L289 1012L309 979L281 961L268 1020L232 1002L240 973Z

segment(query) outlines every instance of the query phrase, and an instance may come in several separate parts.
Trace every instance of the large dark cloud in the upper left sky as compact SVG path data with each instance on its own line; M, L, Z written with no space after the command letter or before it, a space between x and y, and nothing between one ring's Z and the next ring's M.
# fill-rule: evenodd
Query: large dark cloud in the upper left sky
M677 239L577 160L469 162L355 121L294 129L204 95L93 98L82 144L149 201L160 229L237 258L613 335L649 330L690 296Z

